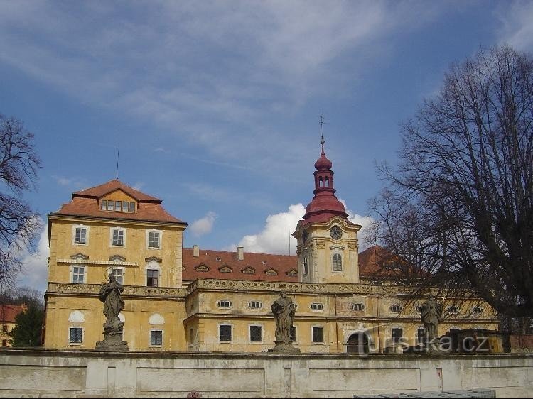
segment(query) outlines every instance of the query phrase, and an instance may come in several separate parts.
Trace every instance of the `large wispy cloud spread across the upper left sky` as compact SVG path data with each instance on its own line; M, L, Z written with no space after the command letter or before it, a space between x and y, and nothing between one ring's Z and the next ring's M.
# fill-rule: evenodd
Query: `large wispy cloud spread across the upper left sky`
M154 123L212 162L257 170L292 163L302 141L297 131L258 127L262 119L294 112L313 94L340 95L373 60L389 57L386 39L438 9L382 1L134 5L0 2L0 62L80 102ZM264 156L247 151L258 147Z

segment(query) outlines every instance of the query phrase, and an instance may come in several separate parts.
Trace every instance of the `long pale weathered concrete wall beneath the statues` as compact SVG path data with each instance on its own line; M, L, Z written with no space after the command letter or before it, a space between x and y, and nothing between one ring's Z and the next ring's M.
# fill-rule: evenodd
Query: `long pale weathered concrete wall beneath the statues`
M496 390L533 396L532 355L185 354L0 351L0 397L346 398L352 395Z

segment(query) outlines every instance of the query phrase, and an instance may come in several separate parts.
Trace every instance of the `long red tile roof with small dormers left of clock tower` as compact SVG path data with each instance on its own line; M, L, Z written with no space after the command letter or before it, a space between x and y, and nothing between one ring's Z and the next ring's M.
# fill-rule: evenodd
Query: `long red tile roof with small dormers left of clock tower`
M217 260L218 259L218 260ZM204 265L208 271L195 270ZM223 273L220 269L228 266L231 273ZM251 267L254 274L242 273ZM212 251L199 249L199 256L193 256L193 248L183 248L183 280L193 281L197 278L217 278L220 280L254 280L254 281L291 281L298 283L298 257L296 255L272 255L271 253L244 252L244 259L239 261L237 252ZM275 270L277 275L265 272ZM291 277L286 273L296 270Z

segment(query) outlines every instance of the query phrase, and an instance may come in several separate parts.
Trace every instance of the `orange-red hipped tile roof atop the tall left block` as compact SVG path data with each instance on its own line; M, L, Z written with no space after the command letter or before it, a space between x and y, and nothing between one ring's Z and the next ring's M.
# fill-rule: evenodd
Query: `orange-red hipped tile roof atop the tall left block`
M127 195L130 195L137 200L137 207L135 212L110 212L102 211L99 208L99 198L109 194L115 190L122 190ZM151 197L143 192L134 190L133 188L124 185L119 180L111 180L97 187L88 188L72 193L72 201L68 204L63 204L63 207L51 214L63 214L72 216L85 217L106 217L112 219L134 219L146 220L150 222L171 222L181 223L180 219L173 217L161 207L161 200L156 197Z

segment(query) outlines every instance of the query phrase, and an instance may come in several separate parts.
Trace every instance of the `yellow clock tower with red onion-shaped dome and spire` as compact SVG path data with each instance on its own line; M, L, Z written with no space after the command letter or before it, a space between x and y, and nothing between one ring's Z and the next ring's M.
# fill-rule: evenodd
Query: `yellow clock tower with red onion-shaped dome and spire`
M332 163L325 156L315 163L313 200L292 234L298 241L298 273L301 283L359 283L357 231L344 205L335 197Z

